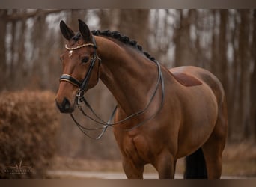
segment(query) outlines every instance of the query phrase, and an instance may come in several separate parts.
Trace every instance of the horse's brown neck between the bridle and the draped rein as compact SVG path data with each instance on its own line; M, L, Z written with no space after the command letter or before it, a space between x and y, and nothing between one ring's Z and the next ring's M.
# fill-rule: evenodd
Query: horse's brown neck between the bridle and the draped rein
M136 49L95 37L102 59L100 79L109 88L123 111L129 115L147 105L157 79L157 67Z

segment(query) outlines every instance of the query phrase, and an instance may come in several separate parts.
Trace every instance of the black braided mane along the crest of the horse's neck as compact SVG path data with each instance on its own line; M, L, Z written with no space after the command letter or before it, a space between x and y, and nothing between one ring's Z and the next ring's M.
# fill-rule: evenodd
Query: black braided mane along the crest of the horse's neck
M106 36L106 37L112 37L112 38L114 38L114 39L116 39L118 41L121 41L122 43L125 43L125 44L127 44L129 46L133 46L136 49L138 49L138 51L143 52L144 55L148 59L150 59L151 61L156 62L156 58L153 58L148 52L144 52L143 49L142 49L142 46L138 45L138 43L135 40L130 40L129 37L124 36L123 34L121 34L118 31L109 31L109 30L99 31L99 30L94 30L94 31L91 31L91 33L94 36L102 35L102 36Z

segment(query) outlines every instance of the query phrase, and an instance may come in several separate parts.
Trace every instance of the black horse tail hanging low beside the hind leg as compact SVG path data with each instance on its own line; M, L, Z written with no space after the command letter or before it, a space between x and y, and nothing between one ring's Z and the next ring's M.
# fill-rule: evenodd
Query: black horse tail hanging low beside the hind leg
M186 156L185 167L185 179L207 179L207 168L202 148Z

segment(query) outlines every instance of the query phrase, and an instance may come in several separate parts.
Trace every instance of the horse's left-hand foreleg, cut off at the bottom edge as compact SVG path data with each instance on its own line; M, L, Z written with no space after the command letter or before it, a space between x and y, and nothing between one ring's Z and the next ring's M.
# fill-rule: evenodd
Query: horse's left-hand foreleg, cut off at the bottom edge
M130 159L123 159L124 173L128 179L142 179L144 165L135 165Z

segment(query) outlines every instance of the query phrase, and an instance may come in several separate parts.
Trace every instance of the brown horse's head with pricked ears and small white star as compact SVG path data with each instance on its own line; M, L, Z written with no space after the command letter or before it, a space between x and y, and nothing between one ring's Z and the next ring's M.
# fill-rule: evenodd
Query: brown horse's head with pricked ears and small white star
M60 78L56 105L63 113L72 113L80 96L97 85L100 76L100 58L94 36L85 22L79 20L79 32L74 33L64 21L61 34L67 40L60 59L63 74Z

